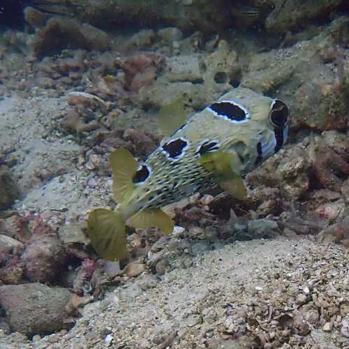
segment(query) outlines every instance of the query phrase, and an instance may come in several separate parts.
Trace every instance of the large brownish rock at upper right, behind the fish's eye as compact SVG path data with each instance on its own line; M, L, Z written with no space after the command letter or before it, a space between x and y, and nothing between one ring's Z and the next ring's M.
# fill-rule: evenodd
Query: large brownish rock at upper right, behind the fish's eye
M242 87L276 96L287 103L293 126L305 125L318 131L346 130L348 85L344 69L334 71L327 61L329 58L324 57L325 52L333 52L332 64L343 65L345 54L332 35L342 22L348 27L348 18L340 17L311 40L254 54L242 76ZM309 61L313 62L311 69Z

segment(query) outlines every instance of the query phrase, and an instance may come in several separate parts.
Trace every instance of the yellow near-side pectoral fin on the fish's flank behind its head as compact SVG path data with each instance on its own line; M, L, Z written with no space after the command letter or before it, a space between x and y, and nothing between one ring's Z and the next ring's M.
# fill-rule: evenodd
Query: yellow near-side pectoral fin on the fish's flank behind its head
M242 177L233 168L239 168L239 156L225 151L214 151L200 158L202 166L217 177L218 185L237 200L246 200L247 192Z

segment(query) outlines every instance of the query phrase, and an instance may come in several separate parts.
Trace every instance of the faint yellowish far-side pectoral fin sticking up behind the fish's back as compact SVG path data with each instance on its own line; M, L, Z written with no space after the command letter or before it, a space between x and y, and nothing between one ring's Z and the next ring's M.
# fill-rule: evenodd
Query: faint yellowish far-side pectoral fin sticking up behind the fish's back
M179 98L164 105L158 112L158 128L163 137L167 138L185 124L186 119L188 119L188 113L184 109L184 98Z

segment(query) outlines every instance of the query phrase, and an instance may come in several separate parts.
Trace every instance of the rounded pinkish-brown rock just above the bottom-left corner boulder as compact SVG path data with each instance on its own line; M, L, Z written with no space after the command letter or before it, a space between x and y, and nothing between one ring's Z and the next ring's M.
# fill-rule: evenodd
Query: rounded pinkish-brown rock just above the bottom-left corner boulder
M22 260L29 280L55 283L66 268L66 251L56 235L46 234L27 244Z

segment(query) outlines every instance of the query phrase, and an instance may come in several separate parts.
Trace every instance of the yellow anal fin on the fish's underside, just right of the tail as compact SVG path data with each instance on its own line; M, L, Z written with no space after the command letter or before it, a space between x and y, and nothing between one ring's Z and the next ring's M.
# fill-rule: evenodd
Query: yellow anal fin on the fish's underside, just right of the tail
M174 223L170 216L161 209L144 209L129 218L128 223L134 228L140 229L157 227L165 234L170 234L174 228Z

